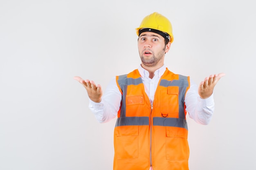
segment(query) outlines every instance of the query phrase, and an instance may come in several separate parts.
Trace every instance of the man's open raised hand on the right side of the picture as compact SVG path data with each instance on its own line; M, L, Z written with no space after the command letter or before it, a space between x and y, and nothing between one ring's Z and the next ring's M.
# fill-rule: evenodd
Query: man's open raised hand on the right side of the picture
M204 81L200 82L198 87L198 94L200 95L200 97L202 99L210 97L213 93L214 86L224 75L225 73L219 73L215 75L210 75L209 77L205 77Z

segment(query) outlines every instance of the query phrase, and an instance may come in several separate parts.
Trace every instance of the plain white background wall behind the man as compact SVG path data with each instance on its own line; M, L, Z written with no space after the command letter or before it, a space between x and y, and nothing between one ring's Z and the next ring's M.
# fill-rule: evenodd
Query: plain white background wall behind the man
M190 170L256 169L256 11L252 0L1 0L0 170L111 170L115 119L99 124L85 88L140 63L135 28L173 25L174 73L226 73L207 126L188 118Z

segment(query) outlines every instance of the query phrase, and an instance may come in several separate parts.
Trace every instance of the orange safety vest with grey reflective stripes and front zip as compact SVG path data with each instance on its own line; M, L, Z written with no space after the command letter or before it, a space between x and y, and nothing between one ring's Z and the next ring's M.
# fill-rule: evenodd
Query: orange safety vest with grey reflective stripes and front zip
M114 170L189 170L184 103L189 77L166 68L153 105L137 69L116 80L123 97L114 130Z

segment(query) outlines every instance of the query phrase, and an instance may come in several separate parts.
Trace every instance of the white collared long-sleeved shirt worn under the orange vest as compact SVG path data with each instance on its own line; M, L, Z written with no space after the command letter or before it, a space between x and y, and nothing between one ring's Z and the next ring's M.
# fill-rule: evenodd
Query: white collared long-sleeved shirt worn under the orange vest
M152 79L149 78L149 72L142 68L141 65L139 65L138 70L144 84L145 92L152 104L158 82L164 74L166 67L162 66L157 69ZM106 88L106 92L101 98L101 102L95 103L89 99L89 108L100 123L108 122L117 116L121 98L122 95L117 87L116 78L113 77ZM214 111L213 95L207 99L201 99L198 95L197 85L191 80L190 88L185 96L185 105L186 112L189 114L191 119L194 119L198 124L209 124Z

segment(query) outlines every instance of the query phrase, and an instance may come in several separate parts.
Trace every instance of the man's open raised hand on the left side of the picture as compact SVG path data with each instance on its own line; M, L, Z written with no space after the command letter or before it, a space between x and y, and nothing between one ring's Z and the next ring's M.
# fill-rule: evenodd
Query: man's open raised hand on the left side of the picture
M102 91L102 88L101 88L101 85L97 85L94 83L94 81L90 81L88 79L82 79L81 77L78 77L78 76L75 76L74 77L75 80L77 80L79 83L81 83L87 93L88 93L88 96L89 98L93 101L93 102L101 102L101 96L103 94L103 91Z

